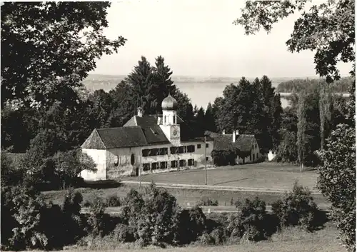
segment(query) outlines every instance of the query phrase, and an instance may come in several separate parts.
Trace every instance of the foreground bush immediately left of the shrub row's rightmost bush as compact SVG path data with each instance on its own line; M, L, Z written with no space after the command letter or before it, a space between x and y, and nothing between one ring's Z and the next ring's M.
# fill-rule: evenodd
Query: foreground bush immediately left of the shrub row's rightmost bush
M249 241L259 241L266 238L266 203L255 198L248 198L243 203L237 201L238 213L229 219L227 227L231 237L246 238Z

